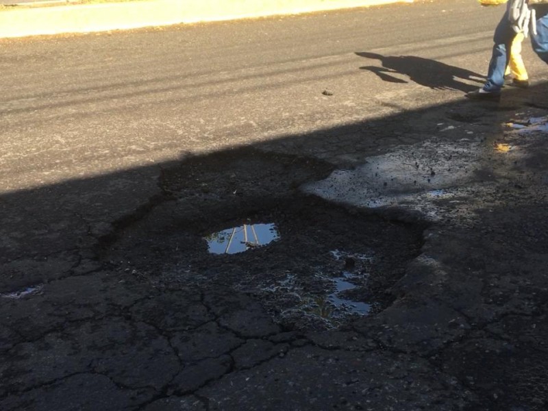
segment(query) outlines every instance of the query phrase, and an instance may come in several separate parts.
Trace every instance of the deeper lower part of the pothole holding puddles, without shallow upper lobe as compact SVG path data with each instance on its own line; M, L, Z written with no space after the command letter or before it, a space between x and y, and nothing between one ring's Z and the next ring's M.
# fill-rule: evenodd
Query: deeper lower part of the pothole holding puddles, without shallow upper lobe
M155 210L112 247L108 258L121 275L160 289L229 287L260 301L288 329L340 327L390 306L387 290L422 244L421 225L314 197L295 195L245 225L207 217L197 230L171 222L177 209L170 202ZM151 229L158 221L164 225Z

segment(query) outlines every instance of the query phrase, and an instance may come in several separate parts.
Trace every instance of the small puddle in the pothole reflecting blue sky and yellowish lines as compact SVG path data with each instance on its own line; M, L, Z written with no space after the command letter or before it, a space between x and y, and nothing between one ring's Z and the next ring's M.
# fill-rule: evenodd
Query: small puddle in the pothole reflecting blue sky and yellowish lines
M244 224L204 237L212 254L242 253L263 247L277 239L279 239L279 233L273 223Z

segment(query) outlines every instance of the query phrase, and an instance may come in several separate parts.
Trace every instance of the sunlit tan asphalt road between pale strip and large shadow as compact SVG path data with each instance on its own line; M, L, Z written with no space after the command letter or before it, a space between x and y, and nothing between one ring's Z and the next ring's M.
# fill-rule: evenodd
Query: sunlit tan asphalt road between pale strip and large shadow
M477 82L448 79L484 75L502 12L435 1L3 40L0 190L462 99ZM544 75L527 45L524 57Z

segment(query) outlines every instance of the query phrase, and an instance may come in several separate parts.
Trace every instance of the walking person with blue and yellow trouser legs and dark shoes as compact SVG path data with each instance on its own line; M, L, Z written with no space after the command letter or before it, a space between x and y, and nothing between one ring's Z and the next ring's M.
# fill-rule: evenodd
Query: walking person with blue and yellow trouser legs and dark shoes
M483 5L507 3L507 7L493 35L495 45L489 62L487 81L482 88L467 93L466 97L498 101L501 97L505 76L508 74L514 76L511 82L514 86L522 88L529 86L529 76L521 58L521 43L525 38L525 33L523 27L516 29L516 25L512 24L509 18L510 10L521 7L523 1L480 0Z

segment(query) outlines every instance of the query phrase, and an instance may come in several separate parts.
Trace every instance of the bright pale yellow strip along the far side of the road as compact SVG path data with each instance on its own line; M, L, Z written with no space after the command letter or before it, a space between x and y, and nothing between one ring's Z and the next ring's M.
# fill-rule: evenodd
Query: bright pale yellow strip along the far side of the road
M0 38L104 32L369 7L401 0L144 0L0 10ZM410 2L410 1L405 1Z

